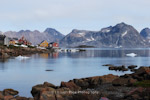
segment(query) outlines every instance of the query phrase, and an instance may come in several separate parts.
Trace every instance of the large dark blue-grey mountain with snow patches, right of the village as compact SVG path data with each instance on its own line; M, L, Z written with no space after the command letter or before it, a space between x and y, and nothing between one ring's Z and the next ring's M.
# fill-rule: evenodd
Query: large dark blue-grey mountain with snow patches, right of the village
M140 34L131 25L119 23L115 26L103 28L100 31L74 29L60 43L66 47L79 45L95 47L148 47L149 43L146 38L147 35L143 37L142 33Z

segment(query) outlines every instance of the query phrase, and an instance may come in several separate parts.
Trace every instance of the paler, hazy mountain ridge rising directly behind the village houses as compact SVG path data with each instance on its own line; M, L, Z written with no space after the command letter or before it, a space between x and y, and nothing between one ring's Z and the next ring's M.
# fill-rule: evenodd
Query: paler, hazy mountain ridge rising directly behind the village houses
M30 41L34 45L41 43L41 41L43 40L47 40L48 42L59 42L64 37L63 34L61 34L53 28L47 28L44 32L40 32L38 30L21 30L19 32L8 31L4 32L3 34L5 34L8 37L17 38L21 38L22 36L24 36L28 41Z

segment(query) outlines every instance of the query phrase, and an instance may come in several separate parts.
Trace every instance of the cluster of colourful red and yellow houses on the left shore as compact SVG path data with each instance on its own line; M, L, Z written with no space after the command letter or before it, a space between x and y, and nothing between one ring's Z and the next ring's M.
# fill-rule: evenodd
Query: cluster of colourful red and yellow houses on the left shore
M0 35L0 45L5 46L16 46L16 47L36 47L39 49L59 49L59 44L57 42L48 43L46 40L43 40L38 45L32 45L30 41L28 41L24 36L20 39L18 38L10 38L5 35Z

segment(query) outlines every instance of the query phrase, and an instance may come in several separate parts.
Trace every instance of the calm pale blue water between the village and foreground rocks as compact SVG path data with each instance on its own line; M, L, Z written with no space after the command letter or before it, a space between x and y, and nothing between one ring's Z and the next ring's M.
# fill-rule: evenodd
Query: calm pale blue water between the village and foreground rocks
M127 57L128 53L137 56ZM149 66L150 49L91 48L85 52L35 54L26 60L0 60L0 90L13 88L19 95L31 97L32 86L45 81L60 85L74 78L130 73L109 71L104 64Z

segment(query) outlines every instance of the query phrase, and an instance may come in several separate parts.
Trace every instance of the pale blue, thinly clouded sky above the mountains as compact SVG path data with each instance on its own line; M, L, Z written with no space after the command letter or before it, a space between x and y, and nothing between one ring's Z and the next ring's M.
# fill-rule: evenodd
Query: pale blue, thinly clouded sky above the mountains
M150 0L0 0L0 31L100 30L125 22L150 27Z

